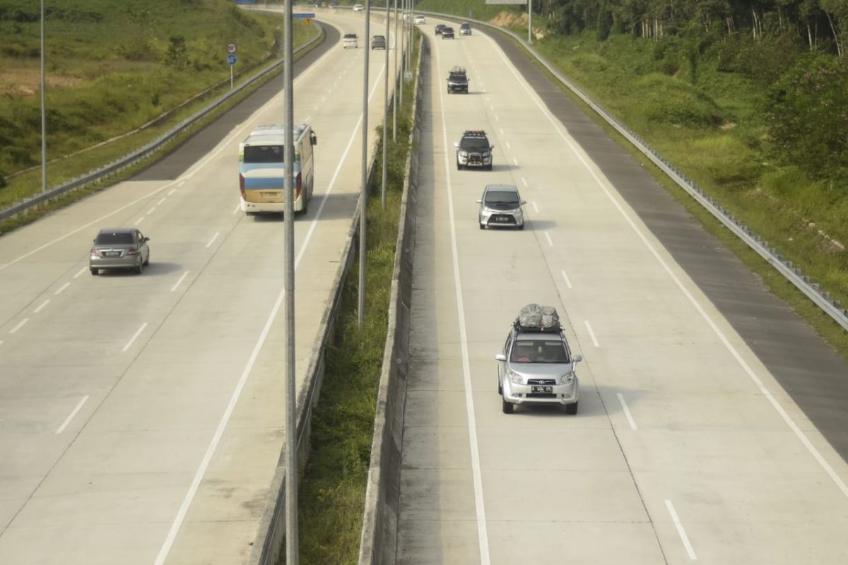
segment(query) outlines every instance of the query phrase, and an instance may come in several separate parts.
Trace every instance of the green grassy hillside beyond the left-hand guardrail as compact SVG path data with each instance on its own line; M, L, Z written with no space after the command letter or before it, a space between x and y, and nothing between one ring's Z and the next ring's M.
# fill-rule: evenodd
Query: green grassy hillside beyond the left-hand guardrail
M229 90L228 42L237 44L236 83L282 56L282 18L226 0L50 4L50 187L142 147ZM295 46L318 33L298 22L293 31ZM38 3L0 0L0 209L42 190L40 33Z

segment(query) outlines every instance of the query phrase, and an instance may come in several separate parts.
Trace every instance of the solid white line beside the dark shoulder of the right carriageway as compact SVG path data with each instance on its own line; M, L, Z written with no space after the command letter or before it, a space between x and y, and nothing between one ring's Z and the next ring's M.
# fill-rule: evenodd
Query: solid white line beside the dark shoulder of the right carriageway
M494 44L494 40L490 40L490 41L492 41L493 44ZM828 474L828 477L830 477L830 479L834 481L834 484L842 492L842 494L844 496L848 497L848 485L845 484L845 481L842 480L838 474L836 474L836 472L834 471L834 468L831 467L830 463L828 463L824 459L821 452L819 452L816 449L816 446L812 445L812 441L810 441L809 438L806 437L806 434L804 434L804 432L801 431L801 429L798 427L798 425L795 424L795 421L791 417L789 417L789 414L786 413L786 411L784 410L784 407L780 406L777 399L773 396L773 394L770 391L768 391L768 389L766 388L766 385L762 384L762 380L760 380L760 378L756 376L754 369L750 368L750 365L745 362L745 359L742 358L741 354L736 350L736 348L733 346L733 344L730 343L730 341L728 340L728 337L726 335L724 335L722 330L720 330L718 328L718 326L716 325L716 323L712 321L712 319L706 313L704 308L700 306L700 303L697 300L695 300L695 296L692 296L692 294L689 292L689 290L687 290L686 287L683 285L683 282L680 279L678 279L678 276L676 274L672 273L672 269L668 266L668 264L665 262L665 260L663 260L663 258L661 258L660 253L656 251L656 249L654 248L653 245L651 245L650 241L648 241L648 238L642 233L641 230L639 230L639 228L636 226L635 222L633 222L633 220L628 217L628 214L624 211L624 208L622 208L621 204L616 202L616 199L615 199L615 197L612 196L610 189L607 188L605 186L604 182L602 180L600 180L600 177L597 174L595 174L594 170L589 166L589 163L587 163L586 159L583 158L583 155L579 151L577 151L577 147L574 146L574 143L572 142L572 140L569 139L568 136L566 136L562 132L561 125L557 125L555 118L550 114L550 112L548 112L544 108L543 103L538 100L538 97L534 96L533 91L530 90L530 88L527 86L527 84L524 83L524 81L521 79L521 76L518 75L518 72L516 71L516 69L509 63L509 59L507 59L505 57L504 53L501 53L501 52L499 52L499 53L500 53L501 58L503 58L504 61L506 62L506 64L508 65L508 68L510 69L512 74L516 77L516 80L524 87L524 90L527 91L527 93L530 95L530 98L533 100L533 102L536 102L536 105L539 108L539 110L548 119L550 124L554 126L554 129L556 130L556 132L560 135L560 137L563 139L563 141L566 142L566 145L572 149L572 152L574 152L575 156L577 156L577 158L580 160L580 162L583 163L583 166L586 168L586 170L589 171L589 174L592 175L592 178L595 180L595 182L598 184L598 186L600 186L600 189L602 191L604 191L606 197L610 199L610 202L612 202L612 205L618 210L619 213L622 214L622 217L624 218L624 220L630 225L631 229L636 233L636 235L642 241L644 246L646 246L648 248L648 251L650 251L650 253L654 256L654 258L656 258L657 262L659 262L661 264L662 268L666 271L668 276L671 277L671 279L674 281L674 284L677 285L678 288L680 289L680 291L683 292L683 295L686 296L687 299L689 299L689 302L695 307L695 310L698 311L701 318L704 319L706 324L710 326L711 330L717 335L719 341L722 342L722 345L728 350L728 352L730 352L730 354L734 357L734 359L736 359L736 362L739 363L739 366L745 371L745 374L747 374L748 377L754 382L754 385L756 385L756 388L759 389L759 391L762 393L762 395L767 398L768 402L770 402L772 404L772 407L777 411L777 413L780 415L780 417L784 419L784 422L786 423L786 425L789 426L789 429L791 429L795 433L795 436L798 438L798 440L801 441L801 444L803 444L803 446L806 447L806 450L810 452L810 454L816 460L816 462L819 464L819 466L821 466L821 468L823 468L824 472L826 474ZM792 402L795 402L795 401L792 401Z

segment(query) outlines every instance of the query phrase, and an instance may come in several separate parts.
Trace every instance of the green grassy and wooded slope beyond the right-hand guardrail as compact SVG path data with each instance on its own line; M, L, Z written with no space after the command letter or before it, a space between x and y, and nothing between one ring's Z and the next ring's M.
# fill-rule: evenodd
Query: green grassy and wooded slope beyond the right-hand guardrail
M481 10L473 0L417 6L460 17ZM619 2L578 9L574 0L540 0L534 6L533 47L848 305L848 61L840 33L848 30L848 12L828 12L826 0L809 4L806 15L792 3L784 11L722 4L723 18L688 3L673 14L660 6L630 14L633 4ZM482 19L527 36L525 7L488 8L502 9ZM587 108L587 114L594 113ZM664 174L654 173L691 213L712 224L709 230L723 230ZM747 253L744 246L730 247ZM807 299L775 280L762 259L745 262L848 357L845 330L806 307Z

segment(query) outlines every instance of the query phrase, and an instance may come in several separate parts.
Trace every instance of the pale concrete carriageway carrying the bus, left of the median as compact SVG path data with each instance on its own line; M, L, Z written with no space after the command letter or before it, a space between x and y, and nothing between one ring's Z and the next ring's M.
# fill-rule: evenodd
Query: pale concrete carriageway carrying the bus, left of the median
M294 81L295 119L318 135L295 223L298 384L361 178L365 48L338 38L364 19L320 18L328 41ZM371 132L386 70L371 58ZM281 85L0 238L0 563L232 565L251 551L285 436L284 230L238 211L237 146L282 123ZM93 277L93 236L120 225L150 237L151 265Z

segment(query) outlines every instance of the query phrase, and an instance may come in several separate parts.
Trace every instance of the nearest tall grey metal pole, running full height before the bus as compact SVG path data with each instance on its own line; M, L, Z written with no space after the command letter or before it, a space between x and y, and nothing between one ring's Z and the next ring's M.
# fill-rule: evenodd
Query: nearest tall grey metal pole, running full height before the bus
M286 316L286 563L298 565L298 444L297 444L297 399L294 385L294 88L292 80L292 0L286 0L286 15L283 24L285 51L283 53L283 80L285 80L285 118L283 181L286 195L283 216L286 237L283 248L285 268L284 302ZM309 141L307 141L309 142ZM304 198L306 193L304 192Z

